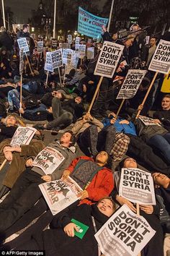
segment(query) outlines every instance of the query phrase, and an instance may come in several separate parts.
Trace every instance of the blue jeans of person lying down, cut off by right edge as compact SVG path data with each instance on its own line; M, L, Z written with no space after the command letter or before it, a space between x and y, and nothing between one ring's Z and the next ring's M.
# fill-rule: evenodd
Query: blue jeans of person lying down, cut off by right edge
M161 153L170 163L170 132L167 132L166 135L154 135L148 140L148 144L161 150Z

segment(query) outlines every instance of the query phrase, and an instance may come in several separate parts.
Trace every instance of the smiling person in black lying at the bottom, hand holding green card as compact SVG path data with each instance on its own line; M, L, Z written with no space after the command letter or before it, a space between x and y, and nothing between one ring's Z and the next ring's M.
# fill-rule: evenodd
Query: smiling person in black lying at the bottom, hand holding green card
M110 197L103 197L94 205L80 205L70 209L67 213L62 212L53 218L50 223L51 229L42 231L43 223L50 220L48 213L40 217L37 223L33 224L32 230L24 231L17 239L4 244L1 249L16 250L45 250L50 256L98 256L99 247L94 234L115 212L115 202ZM79 231L77 226L71 221L76 219L89 229L83 239L78 239L74 231ZM95 224L93 224L95 223ZM24 241L24 242L23 242Z

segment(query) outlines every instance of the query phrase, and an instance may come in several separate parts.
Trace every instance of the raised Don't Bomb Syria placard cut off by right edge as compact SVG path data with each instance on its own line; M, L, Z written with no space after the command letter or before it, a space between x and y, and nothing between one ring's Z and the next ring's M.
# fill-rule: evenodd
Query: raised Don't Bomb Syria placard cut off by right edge
M166 74L170 71L170 42L160 40L153 54L149 70Z

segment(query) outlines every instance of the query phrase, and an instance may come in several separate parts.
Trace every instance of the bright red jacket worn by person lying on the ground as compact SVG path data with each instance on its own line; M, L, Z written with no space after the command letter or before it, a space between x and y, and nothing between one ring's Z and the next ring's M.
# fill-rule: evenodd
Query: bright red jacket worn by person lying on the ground
M75 158L72 161L71 165L67 168L67 170L72 172L74 167L76 166L76 163L78 163L80 159L86 159L94 162L94 160L92 158L89 158L88 156L81 156L79 158ZM86 187L86 191L88 192L89 197L88 199L86 198L84 200L81 200L81 204L87 203L91 205L93 202L97 202L102 197L109 196L113 188L114 180L112 171L109 170L109 168L103 167L94 176L89 186Z

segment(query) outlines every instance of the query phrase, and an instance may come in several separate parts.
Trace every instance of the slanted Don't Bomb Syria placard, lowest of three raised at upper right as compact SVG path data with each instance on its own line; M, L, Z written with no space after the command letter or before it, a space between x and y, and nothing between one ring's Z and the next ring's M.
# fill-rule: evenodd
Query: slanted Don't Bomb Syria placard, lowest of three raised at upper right
M143 77L146 75L146 70L136 70L129 69L128 74L125 77L125 80L120 88L120 91L117 95L119 98L133 98L138 91L140 83L143 80Z

